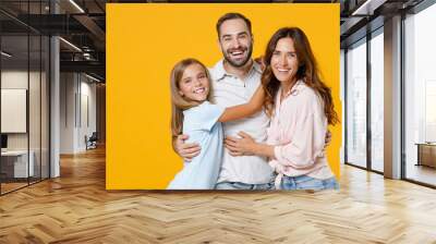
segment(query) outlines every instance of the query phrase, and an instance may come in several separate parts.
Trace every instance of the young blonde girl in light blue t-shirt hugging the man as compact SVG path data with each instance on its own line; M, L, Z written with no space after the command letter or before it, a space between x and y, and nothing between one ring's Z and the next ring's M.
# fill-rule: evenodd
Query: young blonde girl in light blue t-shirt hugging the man
M221 163L223 133L220 122L242 119L262 109L264 90L259 87L249 103L220 108L209 101L210 76L195 59L178 62L171 71L172 136L190 135L201 154L168 185L168 190L211 190Z

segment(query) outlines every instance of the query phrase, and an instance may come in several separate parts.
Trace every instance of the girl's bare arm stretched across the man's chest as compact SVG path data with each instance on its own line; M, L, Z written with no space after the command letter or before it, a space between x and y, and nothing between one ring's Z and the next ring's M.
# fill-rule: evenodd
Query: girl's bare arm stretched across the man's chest
M221 114L218 121L228 122L249 117L262 109L264 99L264 88L262 87L262 85L259 85L259 87L256 89L256 93L254 93L253 97L247 103L226 108L225 112Z

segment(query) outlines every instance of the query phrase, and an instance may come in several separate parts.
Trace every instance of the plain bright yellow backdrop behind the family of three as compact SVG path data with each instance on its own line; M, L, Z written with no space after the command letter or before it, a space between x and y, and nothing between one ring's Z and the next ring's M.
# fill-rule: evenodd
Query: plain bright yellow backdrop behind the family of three
M222 58L215 25L227 12L252 21L253 57L279 27L302 28L341 114L339 4L107 4L108 190L165 188L182 168L171 148L169 74L187 57L207 66ZM328 160L339 176L341 127L330 131Z

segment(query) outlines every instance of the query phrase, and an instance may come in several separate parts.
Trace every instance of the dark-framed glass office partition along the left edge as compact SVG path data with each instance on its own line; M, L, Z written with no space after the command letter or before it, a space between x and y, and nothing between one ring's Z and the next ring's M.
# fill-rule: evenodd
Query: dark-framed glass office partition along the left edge
M0 3L0 7L7 4ZM45 1L22 1L20 11L39 14ZM23 15L26 16L26 15ZM49 176L49 37L0 12L0 194Z

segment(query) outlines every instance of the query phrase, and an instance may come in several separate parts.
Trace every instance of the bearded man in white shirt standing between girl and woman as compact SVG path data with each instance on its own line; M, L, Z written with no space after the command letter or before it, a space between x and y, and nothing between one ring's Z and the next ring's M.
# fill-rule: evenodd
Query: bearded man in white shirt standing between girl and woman
M250 101L261 85L262 69L252 59L253 34L250 20L240 13L227 13L217 22L219 46L223 59L209 70L213 80L213 100L222 107ZM264 111L250 118L223 124L226 136L240 131L257 142L266 141L269 119ZM199 154L196 144L184 144L189 135L174 142L175 151L185 160ZM234 154L233 154L234 155ZM272 169L267 159L258 156L232 156L225 148L217 190L268 190L272 186Z

